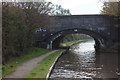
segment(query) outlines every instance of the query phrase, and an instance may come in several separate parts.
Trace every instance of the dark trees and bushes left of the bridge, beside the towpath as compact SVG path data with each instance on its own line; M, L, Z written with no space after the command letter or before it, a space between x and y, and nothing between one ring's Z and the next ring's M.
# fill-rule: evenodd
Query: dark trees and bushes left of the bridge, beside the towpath
M3 62L21 56L34 47L36 28L49 27L49 15L58 15L53 11L67 15L65 9L56 10L51 2L2 3Z

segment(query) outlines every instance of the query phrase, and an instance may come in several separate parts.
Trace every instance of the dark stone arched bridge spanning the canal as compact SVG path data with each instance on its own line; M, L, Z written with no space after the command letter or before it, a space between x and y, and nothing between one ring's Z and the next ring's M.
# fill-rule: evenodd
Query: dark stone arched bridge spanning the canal
M37 30L36 46L58 48L60 40L73 33L87 34L94 38L98 48L109 48L118 37L119 18L109 15L67 15L50 16L48 30Z

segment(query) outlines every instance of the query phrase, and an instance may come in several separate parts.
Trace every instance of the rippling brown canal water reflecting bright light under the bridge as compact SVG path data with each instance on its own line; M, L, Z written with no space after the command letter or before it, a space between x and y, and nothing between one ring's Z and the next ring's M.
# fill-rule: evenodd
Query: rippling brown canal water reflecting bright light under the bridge
M93 40L72 46L56 63L51 80L118 80L118 53L96 53Z

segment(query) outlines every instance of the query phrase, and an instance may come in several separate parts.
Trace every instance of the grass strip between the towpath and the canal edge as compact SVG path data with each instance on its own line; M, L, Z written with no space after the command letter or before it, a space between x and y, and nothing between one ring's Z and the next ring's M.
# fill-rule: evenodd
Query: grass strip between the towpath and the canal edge
M47 56L45 59L43 59L39 66L37 66L35 69L32 70L32 72L25 76L25 78L45 78L47 73L49 72L49 69L53 62L55 61L56 57L62 52L56 51L55 53Z

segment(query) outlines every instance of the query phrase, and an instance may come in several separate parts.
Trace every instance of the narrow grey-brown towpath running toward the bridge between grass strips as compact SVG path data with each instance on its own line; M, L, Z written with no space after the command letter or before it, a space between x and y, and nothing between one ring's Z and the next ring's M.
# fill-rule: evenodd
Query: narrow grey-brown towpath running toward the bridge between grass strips
M33 68L38 66L38 62L42 61L45 57L49 56L50 54L56 52L58 50L51 51L49 53L46 53L42 56L39 56L37 58L31 59L25 63L23 63L21 66L16 68L16 71L13 72L10 75L7 75L5 78L24 78L27 74L29 74Z

